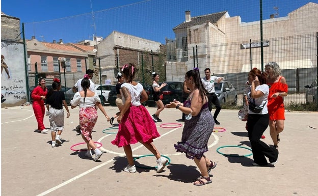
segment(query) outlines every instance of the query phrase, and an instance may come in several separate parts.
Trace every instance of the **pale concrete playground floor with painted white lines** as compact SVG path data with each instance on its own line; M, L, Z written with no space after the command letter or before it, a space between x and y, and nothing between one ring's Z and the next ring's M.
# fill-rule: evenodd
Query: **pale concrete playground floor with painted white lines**
M70 108L70 107L69 107ZM105 106L109 116L117 112L117 107ZM147 107L152 115L156 108ZM214 110L212 111L214 112ZM161 137L154 145L170 158L170 164L162 173L154 169L140 167L156 166L153 156L136 159L137 172L125 173L127 160L122 148L111 144L115 138L109 122L98 111L99 117L92 133L96 142L102 143L101 158L95 162L86 158L85 152L72 151L74 144L83 139L76 133L78 108L70 109L70 118L65 118L61 135L63 144L51 148L51 134L35 132L36 119L32 106L1 109L1 193L2 195L318 195L318 113L286 112L285 129L280 134L279 160L275 167L251 166L250 150L221 146L241 146L250 148L245 130L245 122L237 118L237 110L221 110L205 155L217 162L211 184L194 186L200 176L193 160L184 154L176 153L174 144L180 141L182 128L173 124L183 122L179 110L164 109L163 120L156 123ZM117 123L117 121L115 120ZM168 128L163 128L160 125ZM44 125L49 128L48 116ZM118 125L118 124L115 124ZM105 133L104 133L105 132ZM269 128L263 141L272 145ZM141 144L131 146L135 157L150 152ZM85 149L78 145L75 149Z

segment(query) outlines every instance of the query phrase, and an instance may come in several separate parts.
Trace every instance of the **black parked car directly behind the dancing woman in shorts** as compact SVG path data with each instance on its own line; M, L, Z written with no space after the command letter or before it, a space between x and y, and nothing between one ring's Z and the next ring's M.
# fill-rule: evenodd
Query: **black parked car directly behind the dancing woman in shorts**
M173 99L177 101L182 101L182 92L183 92L183 82L180 81L165 81L167 85L161 89L161 93L164 95L163 103L168 104ZM161 85L161 83L159 83ZM149 107L155 107L155 102L153 101L153 90L151 87L150 95L148 97L147 104Z

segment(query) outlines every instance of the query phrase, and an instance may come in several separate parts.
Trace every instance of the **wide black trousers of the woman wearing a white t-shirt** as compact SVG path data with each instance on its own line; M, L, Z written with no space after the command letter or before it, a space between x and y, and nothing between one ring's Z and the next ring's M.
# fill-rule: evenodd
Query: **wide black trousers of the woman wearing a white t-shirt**
M247 131L252 146L254 162L259 165L267 165L266 157L270 162L275 162L278 157L278 150L270 147L260 140L261 135L269 125L269 114L248 115Z

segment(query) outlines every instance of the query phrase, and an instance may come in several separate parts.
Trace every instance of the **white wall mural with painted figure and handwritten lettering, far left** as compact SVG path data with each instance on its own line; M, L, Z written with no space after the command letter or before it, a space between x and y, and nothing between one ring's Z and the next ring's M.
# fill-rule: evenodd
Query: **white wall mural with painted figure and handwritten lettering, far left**
M1 48L1 107L18 106L27 101L23 44Z

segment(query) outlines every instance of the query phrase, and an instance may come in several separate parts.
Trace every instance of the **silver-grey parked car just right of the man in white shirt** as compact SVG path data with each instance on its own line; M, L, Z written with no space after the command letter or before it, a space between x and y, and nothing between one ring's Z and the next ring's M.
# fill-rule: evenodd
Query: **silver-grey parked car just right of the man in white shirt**
M220 104L237 104L237 92L231 82L221 81L215 82L215 94L219 98Z

